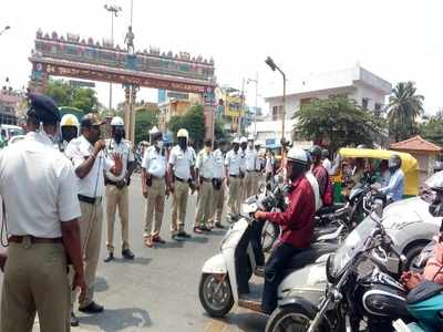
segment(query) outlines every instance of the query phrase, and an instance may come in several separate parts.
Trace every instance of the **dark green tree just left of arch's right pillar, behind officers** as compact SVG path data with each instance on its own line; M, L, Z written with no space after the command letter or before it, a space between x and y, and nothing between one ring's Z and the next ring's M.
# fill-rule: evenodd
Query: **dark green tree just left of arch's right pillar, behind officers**
M178 129L187 129L189 133L189 139L193 139L196 146L203 146L205 139L205 117L203 106L200 104L195 104L185 115L171 117L168 128L174 133L174 137L176 137Z

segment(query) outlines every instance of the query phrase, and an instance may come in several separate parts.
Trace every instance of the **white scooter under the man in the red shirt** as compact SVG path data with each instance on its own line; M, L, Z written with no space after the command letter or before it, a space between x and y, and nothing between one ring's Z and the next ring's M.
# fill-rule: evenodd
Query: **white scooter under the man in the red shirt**
M261 286L249 283L256 266L250 246L250 230L251 222L255 222L254 212L259 207L266 206L264 204L266 199L265 190L243 205L241 218L231 225L222 241L222 252L208 259L203 266L199 299L212 317L226 315L234 303L261 311ZM278 288L279 304L290 301L295 295L318 303L324 294L327 284L323 273L327 257L337 247L334 243L315 243L311 249L297 255L288 264L285 278ZM308 264L309 268L302 269Z

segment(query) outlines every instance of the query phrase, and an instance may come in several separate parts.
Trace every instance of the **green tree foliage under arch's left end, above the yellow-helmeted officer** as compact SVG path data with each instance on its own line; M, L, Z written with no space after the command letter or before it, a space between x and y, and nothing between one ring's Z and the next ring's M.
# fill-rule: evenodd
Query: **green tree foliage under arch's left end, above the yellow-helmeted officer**
M50 80L44 91L59 106L75 107L85 114L99 111L99 100L95 90L73 89L62 80Z

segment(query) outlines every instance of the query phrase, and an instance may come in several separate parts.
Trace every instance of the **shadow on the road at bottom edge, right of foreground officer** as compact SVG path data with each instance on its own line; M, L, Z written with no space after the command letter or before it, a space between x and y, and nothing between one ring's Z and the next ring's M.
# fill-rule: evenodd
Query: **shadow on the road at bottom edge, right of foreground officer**
M150 314L146 310L140 308L126 308L116 310L105 310L101 314L79 318L80 324L94 325L101 331L116 332L127 328L131 331L152 326Z

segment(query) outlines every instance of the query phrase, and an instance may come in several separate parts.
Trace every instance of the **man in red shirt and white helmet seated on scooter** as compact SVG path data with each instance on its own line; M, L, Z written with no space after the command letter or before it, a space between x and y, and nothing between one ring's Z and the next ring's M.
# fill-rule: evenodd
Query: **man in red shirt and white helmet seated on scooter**
M305 173L308 157L305 151L291 148L287 155L287 174L291 180L289 206L284 212L257 211L255 218L281 226L281 237L265 266L265 289L261 309L271 313L277 307L277 289L282 271L293 256L310 247L316 214L313 190Z

